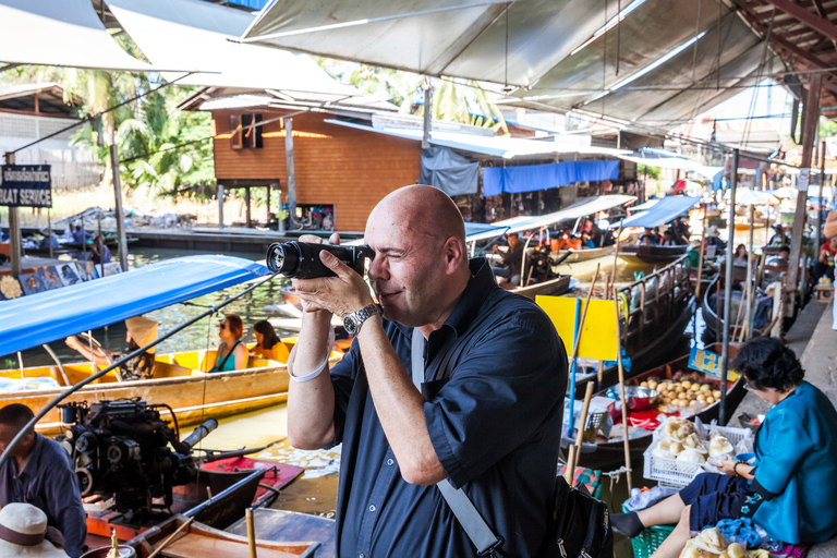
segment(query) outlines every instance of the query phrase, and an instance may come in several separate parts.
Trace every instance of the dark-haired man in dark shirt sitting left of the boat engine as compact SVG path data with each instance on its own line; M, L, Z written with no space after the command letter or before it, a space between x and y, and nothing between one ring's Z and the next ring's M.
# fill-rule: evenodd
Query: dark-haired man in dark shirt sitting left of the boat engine
M0 409L0 451L5 452L17 433L34 417L32 410L20 403ZM70 456L57 441L34 429L26 432L0 469L2 510L12 502L32 504L46 513L49 526L63 536L64 549L71 558L84 553L86 515Z

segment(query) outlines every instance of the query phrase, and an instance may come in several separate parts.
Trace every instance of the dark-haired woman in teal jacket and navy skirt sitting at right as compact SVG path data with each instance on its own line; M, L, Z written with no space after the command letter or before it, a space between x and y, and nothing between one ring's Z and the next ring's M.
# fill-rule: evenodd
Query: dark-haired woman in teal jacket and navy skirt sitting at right
M751 518L786 544L822 543L837 535L837 410L804 381L793 351L778 339L757 337L730 368L773 404L755 438L754 464L726 459L718 470L645 510L612 515L614 530L636 536L644 527L677 523L653 558L677 557L690 530L721 519Z

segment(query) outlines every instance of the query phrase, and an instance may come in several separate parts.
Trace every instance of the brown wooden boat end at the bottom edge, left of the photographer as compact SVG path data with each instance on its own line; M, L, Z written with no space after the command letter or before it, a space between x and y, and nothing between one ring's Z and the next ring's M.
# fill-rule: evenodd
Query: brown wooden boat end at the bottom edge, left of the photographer
M180 533L174 535L174 538L166 545L166 551L158 556L168 558L220 556L244 558L251 556L246 536L227 533L197 521L184 526L187 520L189 518L185 515L174 515L153 530L129 541L125 546L133 548L140 558L148 558L155 549L159 549L170 536L182 527ZM287 543L266 541L258 538L258 531L256 530L256 555L260 558L312 557L318 546L319 543L316 541Z

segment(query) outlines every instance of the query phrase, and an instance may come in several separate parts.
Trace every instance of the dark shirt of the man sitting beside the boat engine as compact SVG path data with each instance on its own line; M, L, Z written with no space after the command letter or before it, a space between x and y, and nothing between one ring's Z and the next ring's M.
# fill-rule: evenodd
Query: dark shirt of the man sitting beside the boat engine
M64 448L40 434L35 438L35 449L23 471L17 472L14 459L0 469L0 505L26 502L39 508L48 524L64 537L66 554L77 558L87 536L78 480Z

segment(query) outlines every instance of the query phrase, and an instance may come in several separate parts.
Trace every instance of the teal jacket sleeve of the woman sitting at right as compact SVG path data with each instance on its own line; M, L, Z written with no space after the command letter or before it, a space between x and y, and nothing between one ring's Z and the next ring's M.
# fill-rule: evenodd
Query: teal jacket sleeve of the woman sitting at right
M797 472L802 458L813 447L802 418L790 409L769 417L767 436L759 444L755 482L767 493L781 494Z

